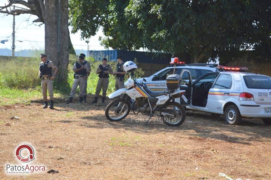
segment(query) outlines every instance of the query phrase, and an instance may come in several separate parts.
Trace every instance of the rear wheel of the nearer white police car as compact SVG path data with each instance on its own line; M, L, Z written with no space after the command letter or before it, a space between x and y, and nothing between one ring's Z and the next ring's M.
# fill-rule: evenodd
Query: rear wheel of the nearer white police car
M224 113L225 122L230 125L239 125L242 117L235 105L229 105Z

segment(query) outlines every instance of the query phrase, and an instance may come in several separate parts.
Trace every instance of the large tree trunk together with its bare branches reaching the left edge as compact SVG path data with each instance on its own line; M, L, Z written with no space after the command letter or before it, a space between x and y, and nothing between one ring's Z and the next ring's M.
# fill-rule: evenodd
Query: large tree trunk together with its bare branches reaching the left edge
M24 5L28 9L8 11L8 7L13 4ZM67 82L69 49L70 53L75 54L68 29L68 0L10 0L9 5L0 7L0 12L12 15L32 14L38 17L33 23L45 24L45 53L59 69L57 83Z

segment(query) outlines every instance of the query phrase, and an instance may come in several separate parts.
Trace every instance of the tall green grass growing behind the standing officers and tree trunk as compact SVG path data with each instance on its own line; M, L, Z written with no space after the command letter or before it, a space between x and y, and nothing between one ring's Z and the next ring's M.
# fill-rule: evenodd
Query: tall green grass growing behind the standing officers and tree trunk
M70 55L70 63L68 67L68 80L67 84L55 85L54 88L57 91L63 92L64 94L69 93L67 90L73 85L73 64L77 62L77 57ZM91 64L91 73L88 78L87 93L94 94L96 85L98 82L98 74L96 70L101 64L101 61L94 61L94 58L87 58L87 61ZM16 57L11 61L0 61L0 88L9 89L40 89L41 80L39 78L39 57L20 58ZM116 71L117 62L108 61L108 64ZM136 70L135 76L142 77L144 72L139 68ZM114 92L115 90L115 77L109 75L108 93ZM128 74L127 74L128 76ZM126 78L126 76L125 76ZM62 87L63 86L63 87ZM78 87L79 88L79 87Z

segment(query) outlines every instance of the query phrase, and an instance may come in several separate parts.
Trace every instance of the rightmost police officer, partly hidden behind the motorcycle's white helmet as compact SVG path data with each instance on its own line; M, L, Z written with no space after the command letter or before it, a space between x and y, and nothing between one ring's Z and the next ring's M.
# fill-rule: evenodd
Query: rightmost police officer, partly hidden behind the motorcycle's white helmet
M124 75L126 72L123 69L123 61L122 56L117 56L117 71L114 72L114 75L116 75L116 84L115 84L115 91L121 88L125 88L124 86Z

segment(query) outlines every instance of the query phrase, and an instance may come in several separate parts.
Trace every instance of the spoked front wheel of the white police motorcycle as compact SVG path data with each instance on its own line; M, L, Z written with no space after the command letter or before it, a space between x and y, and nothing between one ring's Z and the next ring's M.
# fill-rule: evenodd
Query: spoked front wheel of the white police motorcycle
M110 121L120 121L124 119L131 110L131 105L124 102L125 99L116 99L109 103L105 109L105 116Z

